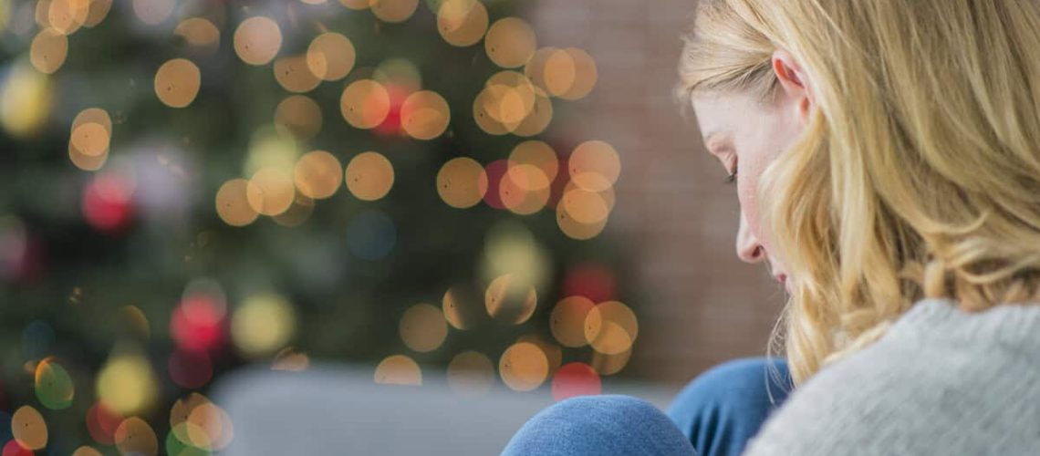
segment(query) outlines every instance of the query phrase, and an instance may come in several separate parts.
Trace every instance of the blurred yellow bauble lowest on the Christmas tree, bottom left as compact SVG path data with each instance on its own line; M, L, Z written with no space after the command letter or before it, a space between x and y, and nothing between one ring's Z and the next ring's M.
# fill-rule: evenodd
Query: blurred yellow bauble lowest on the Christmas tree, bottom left
M113 355L101 369L97 390L106 407L126 415L150 407L158 385L148 359L139 354L121 354Z

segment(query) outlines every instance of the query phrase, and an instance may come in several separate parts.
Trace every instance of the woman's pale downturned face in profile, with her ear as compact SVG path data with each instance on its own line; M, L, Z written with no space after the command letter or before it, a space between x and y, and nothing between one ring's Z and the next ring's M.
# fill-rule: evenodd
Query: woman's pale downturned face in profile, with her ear
M778 281L786 286L787 266L770 253L770 233L760 224L755 195L762 170L786 150L804 128L799 93L778 90L774 102L745 95L696 95L694 109L704 143L727 175L736 172L740 227L736 256L748 263L768 262ZM804 106L802 106L804 108ZM788 289L789 292L789 289Z

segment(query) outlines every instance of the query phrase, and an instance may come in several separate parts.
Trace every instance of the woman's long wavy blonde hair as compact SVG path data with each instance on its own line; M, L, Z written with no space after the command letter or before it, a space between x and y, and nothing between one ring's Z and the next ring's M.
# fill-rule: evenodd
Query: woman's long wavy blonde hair
M922 298L966 312L1040 284L1040 2L701 0L679 91L778 90L775 50L814 108L759 182L791 269L771 347L796 384Z

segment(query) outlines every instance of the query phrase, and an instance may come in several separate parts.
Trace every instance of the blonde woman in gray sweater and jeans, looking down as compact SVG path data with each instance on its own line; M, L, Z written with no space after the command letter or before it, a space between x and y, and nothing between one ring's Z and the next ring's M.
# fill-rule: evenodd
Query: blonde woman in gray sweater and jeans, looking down
M702 0L680 69L789 293L744 454L1040 454L1040 2ZM722 454L703 397L571 399L505 453Z

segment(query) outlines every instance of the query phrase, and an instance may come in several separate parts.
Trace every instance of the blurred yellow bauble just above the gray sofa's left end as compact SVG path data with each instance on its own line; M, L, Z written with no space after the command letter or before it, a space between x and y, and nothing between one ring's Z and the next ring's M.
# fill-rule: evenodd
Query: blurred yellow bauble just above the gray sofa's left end
M282 349L296 330L296 314L282 296L250 296L231 319L231 338L248 356L265 356Z

